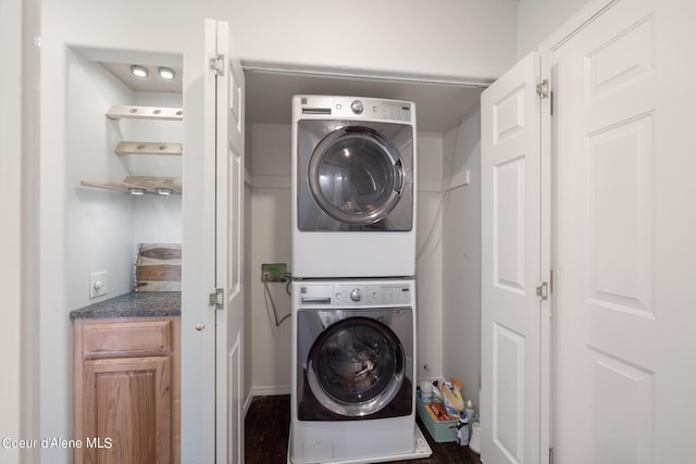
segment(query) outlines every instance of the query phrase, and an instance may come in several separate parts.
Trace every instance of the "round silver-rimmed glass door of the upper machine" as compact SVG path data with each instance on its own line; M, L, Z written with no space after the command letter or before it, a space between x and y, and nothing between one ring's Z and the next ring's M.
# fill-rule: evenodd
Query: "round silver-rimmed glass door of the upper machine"
M309 164L314 201L344 224L383 220L399 202L405 183L399 151L378 131L347 126L324 137Z

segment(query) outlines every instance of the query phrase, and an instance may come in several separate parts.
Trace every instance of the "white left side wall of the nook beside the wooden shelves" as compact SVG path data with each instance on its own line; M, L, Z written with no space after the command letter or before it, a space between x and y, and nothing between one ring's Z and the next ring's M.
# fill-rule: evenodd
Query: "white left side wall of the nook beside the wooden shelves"
M64 198L65 301L71 311L130 290L134 198L80 187L80 180L105 183L128 175L119 156L110 150L119 123L104 114L114 102L132 101L133 92L102 66L72 50L67 51L67 60L64 190L51 193ZM109 293L90 301L89 274L100 271L109 273ZM54 324L54 329L60 327L60 333L67 335L62 346L70 351L70 321L63 317ZM70 373L66 367L70 366L54 363L51 378L55 383L64 378L64 373ZM64 407L70 412L71 406Z

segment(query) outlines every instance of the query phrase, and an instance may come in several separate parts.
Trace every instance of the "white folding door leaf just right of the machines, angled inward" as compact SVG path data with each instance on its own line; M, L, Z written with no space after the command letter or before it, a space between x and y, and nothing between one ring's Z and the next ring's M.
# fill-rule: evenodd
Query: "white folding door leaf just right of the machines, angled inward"
M482 461L548 459L548 301L542 277L539 58L487 88L482 112ZM547 180L548 181L548 180ZM546 253L545 253L546 254ZM546 266L544 266L546 268ZM545 314L543 316L543 314Z

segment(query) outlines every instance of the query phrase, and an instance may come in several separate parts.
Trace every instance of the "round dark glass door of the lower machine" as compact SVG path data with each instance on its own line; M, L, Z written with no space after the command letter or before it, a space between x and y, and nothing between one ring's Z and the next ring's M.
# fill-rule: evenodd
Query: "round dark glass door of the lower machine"
M405 377L405 353L389 327L370 317L332 324L314 341L307 380L328 410L360 417L385 407Z

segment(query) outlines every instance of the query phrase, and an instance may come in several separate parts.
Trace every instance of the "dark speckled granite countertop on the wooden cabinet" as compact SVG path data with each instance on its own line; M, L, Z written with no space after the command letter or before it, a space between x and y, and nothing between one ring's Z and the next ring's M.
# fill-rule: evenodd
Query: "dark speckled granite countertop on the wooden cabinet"
M71 311L71 319L162 317L182 315L181 291L141 291L115 297Z

